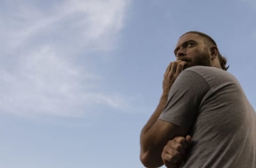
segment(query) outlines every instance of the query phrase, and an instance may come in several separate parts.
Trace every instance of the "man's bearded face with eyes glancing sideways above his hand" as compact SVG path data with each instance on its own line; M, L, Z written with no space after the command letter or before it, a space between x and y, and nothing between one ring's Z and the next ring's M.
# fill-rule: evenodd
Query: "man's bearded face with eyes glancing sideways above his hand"
M187 62L186 68L196 65L211 66L209 47L204 43L204 37L188 33L180 37L174 50L177 60Z

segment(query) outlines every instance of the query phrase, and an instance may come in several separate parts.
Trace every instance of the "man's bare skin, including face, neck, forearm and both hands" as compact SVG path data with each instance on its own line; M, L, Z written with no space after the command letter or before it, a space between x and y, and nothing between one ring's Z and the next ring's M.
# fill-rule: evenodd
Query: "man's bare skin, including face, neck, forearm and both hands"
M161 99L141 131L140 159L145 167L159 167L163 164L166 167L177 167L183 159L183 152L190 144L191 137L187 136L190 128L181 128L158 120L167 102L169 90L178 75L195 65L221 67L218 48L206 45L204 37L195 33L187 33L180 37L174 54L177 60L171 62L164 73Z

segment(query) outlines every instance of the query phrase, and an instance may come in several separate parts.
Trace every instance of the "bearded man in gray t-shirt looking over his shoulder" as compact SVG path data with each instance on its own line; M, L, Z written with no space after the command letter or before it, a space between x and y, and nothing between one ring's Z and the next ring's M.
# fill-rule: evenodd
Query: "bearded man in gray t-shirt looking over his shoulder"
M215 41L190 31L174 54L159 104L141 131L143 165L256 167L256 114L225 71Z

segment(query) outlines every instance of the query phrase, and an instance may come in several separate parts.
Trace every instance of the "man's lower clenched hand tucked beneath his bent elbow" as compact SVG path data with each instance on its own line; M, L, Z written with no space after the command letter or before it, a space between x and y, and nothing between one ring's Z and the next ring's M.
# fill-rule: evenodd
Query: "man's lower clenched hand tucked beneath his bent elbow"
M175 137L164 146L162 160L167 168L178 167L191 144L191 137Z

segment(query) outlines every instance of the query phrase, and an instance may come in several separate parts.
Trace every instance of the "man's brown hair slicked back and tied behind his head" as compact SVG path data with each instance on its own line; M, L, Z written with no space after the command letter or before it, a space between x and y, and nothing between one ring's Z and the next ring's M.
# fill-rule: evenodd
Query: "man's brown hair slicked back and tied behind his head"
M194 34L197 34L197 35L199 35L199 36L202 36L202 37L204 37L204 39L207 40L207 44L211 43L212 45L215 45L215 46L217 47L217 44L216 44L216 42L213 40L213 38L212 38L211 36L209 36L209 35L206 35L206 34L203 33L203 32L200 32L200 31L188 31L188 32L184 33L182 36L184 36L184 35L186 35L186 34L188 34L188 33L194 33ZM182 37L182 36L181 36L181 37ZM218 47L217 47L217 48L218 48ZM219 51L219 49L218 49L218 51ZM222 55L220 54L220 52L218 52L218 53L219 53L219 54L218 54L218 58L219 58L220 66L221 66L221 68L222 68L223 70L227 71L227 69L229 68L229 65L226 66L226 64L227 64L227 58L224 57L224 56L222 56Z

